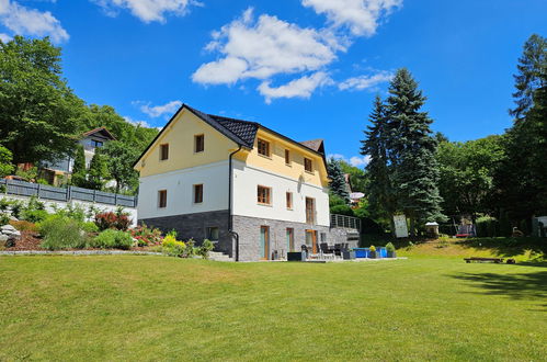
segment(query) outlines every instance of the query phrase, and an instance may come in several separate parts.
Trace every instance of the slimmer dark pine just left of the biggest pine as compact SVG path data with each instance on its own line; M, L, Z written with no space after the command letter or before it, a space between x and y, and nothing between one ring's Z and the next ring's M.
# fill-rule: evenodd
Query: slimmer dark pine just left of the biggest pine
M366 166L368 178L366 194L371 213L377 218L387 218L391 223L396 204L388 170L385 113L384 103L380 97L376 95L374 109L368 118L371 125L365 131L366 139L361 142L361 155L369 157Z

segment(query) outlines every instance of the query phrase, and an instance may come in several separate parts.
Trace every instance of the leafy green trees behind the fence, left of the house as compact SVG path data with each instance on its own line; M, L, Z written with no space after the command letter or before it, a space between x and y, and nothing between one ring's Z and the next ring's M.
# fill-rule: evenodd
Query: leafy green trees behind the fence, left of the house
M158 134L127 122L110 105L80 99L62 77L61 48L48 37L0 41L0 177L16 172L18 165L39 167L69 156L77 160L78 174L67 181L95 190L114 179L116 191L135 192L138 174L133 162ZM77 142L102 126L116 140L96 152L88 170Z

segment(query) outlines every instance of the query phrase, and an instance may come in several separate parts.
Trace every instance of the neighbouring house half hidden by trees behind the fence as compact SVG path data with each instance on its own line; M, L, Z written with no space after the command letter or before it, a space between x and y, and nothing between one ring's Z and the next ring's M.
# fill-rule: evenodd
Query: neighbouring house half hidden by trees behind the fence
M78 140L78 143L83 146L86 167L89 168L96 148L103 147L107 142L115 139L116 138L105 127L99 127L82 134L81 139ZM44 178L50 184L59 184L72 173L73 166L73 157L66 156L57 162L44 163L42 169Z

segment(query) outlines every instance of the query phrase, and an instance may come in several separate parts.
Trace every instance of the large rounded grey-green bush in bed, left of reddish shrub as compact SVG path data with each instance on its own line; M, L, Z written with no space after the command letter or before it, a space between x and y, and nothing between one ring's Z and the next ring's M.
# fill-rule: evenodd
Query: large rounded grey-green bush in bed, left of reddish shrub
M60 215L50 215L38 224L39 234L44 236L41 247L48 250L86 248L88 238L80 224Z

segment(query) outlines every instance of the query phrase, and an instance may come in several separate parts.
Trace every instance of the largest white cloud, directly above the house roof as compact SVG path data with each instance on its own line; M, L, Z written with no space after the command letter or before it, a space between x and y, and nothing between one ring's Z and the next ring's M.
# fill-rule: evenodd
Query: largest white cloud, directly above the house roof
M205 47L218 52L221 58L202 65L192 80L202 84L232 84L243 79L259 79L259 91L266 99L278 97L309 97L326 78L321 70L344 50L346 43L331 32L303 29L275 16L262 14L254 19L252 8L213 32L213 41ZM316 71L278 88L271 88L277 75Z

